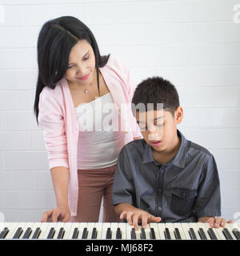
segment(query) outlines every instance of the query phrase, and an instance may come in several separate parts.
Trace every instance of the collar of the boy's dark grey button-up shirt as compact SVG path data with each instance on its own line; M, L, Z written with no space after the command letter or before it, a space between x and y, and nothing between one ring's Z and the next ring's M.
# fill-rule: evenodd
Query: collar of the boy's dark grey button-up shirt
M179 147L178 153L174 155L174 158L172 158L169 162L166 162L164 166L169 166L170 164L173 164L174 166L178 166L180 168L185 167L185 155L186 155L186 150L187 150L187 141L184 135L177 130L178 137L181 138L181 145ZM143 156L142 156L142 163L147 163L147 162L154 162L157 164L156 161L154 161L153 155L152 155L152 150L151 146L148 145L145 142L145 149L143 151Z

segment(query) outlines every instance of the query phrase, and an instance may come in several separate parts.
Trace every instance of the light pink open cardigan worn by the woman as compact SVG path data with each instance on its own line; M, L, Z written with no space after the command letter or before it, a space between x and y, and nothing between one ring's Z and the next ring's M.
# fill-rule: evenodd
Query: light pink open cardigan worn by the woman
M134 115L130 110L134 86L130 82L126 66L110 55L106 66L99 69L110 90L110 94L118 109L118 124L126 128L125 144L134 137L142 136ZM122 111L121 104L128 108ZM68 201L71 216L77 215L78 206L78 170L77 144L78 125L74 110L74 102L66 78L62 78L54 90L44 87L39 98L38 123L42 127L49 168L66 166L70 170ZM122 126L121 126L122 127Z

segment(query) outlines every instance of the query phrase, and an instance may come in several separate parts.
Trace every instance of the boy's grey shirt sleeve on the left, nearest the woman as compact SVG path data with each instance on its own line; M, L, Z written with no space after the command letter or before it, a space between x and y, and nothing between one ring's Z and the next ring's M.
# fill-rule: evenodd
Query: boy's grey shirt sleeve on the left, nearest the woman
M118 162L114 174L114 186L112 190L113 205L118 203L134 202L134 181L130 171L129 158L126 154L125 147L118 154Z

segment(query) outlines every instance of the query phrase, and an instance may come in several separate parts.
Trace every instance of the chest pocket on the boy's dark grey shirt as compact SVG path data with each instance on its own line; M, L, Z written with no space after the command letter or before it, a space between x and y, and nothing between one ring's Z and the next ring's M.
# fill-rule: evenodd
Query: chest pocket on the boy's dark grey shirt
M170 210L179 216L188 216L194 210L197 190L175 188L172 190Z

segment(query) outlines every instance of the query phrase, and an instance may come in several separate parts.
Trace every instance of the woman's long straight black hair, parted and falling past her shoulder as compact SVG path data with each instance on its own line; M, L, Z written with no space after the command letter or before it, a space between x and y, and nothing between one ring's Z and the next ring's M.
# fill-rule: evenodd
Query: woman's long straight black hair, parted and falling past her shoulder
M64 77L68 67L70 50L79 41L85 39L94 50L95 67L105 66L110 54L101 56L98 44L91 30L78 18L63 16L52 19L42 26L38 36L38 81L35 92L34 114L38 122L38 103L42 89L47 86L54 90Z

